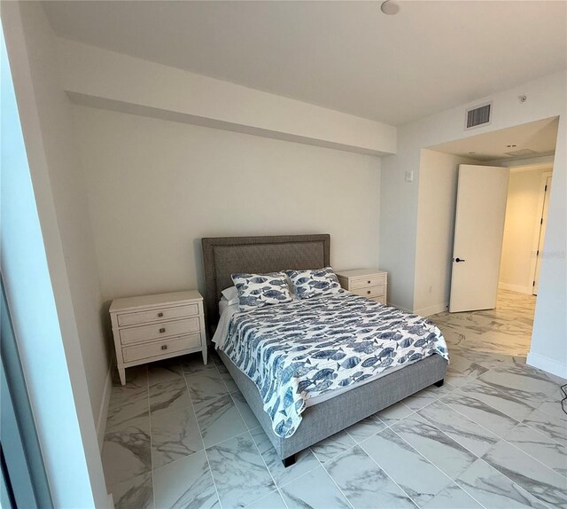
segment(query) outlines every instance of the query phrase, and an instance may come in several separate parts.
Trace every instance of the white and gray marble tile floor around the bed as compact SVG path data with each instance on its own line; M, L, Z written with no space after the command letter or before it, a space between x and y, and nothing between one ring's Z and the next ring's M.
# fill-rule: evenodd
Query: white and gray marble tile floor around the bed
M431 317L452 358L426 388L283 468L218 356L127 370L113 385L106 484L120 508L567 509L567 415L525 364L534 299ZM516 321L518 323L516 324Z

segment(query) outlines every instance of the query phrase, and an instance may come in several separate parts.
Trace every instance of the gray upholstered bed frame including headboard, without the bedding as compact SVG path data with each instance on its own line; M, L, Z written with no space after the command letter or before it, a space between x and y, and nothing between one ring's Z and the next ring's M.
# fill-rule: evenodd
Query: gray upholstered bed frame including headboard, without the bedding
M221 237L203 239L207 330L210 336L218 323L221 291L232 286L235 272L275 272L286 269L320 269L330 265L330 235L285 235L270 237ZM377 411L398 403L433 384L440 387L447 361L433 355L385 375L325 402L307 407L297 431L281 438L272 431L258 388L220 350L222 362L245 396L284 466L295 462L300 450L334 435Z

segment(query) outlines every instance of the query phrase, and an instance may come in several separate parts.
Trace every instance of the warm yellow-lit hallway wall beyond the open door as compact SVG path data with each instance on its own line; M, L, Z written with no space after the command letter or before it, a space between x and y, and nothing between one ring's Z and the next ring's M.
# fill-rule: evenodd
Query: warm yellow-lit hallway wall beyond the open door
M542 175L550 171L543 168L510 173L499 282L505 290L532 294Z

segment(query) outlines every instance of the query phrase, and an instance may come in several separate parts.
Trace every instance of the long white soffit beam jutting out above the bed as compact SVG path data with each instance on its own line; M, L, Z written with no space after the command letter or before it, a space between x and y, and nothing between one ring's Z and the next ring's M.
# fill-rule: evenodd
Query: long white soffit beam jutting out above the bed
M396 129L382 122L88 44L61 39L59 51L65 90L88 106L359 153L396 152Z

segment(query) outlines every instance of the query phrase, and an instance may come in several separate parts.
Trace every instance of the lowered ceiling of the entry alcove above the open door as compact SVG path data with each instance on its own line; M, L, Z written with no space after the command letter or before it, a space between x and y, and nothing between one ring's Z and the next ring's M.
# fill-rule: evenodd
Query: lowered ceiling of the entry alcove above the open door
M477 161L514 159L518 156L507 153L524 149L536 152L526 154L524 157L539 157L555 152L558 125L559 119L554 117L458 139L428 148L437 152L461 155ZM509 147L507 145L517 146ZM522 156L519 157L521 158Z

